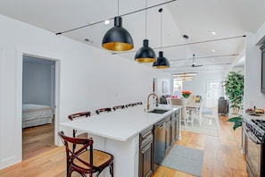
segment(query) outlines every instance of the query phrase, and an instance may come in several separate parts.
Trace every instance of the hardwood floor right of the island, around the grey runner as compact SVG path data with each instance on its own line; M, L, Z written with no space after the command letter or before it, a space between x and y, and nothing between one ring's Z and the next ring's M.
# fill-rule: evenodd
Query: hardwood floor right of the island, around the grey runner
M219 137L182 131L182 139L176 144L204 150L203 177L247 176L245 156L241 154L241 127L233 131L231 122L219 117ZM160 166L152 177L193 176Z

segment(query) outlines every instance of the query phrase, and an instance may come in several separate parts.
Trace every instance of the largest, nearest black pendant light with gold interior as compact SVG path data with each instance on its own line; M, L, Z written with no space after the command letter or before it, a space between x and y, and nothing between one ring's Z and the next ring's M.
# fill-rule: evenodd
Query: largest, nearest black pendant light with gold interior
M112 51L127 51L134 47L134 42L130 34L122 28L122 18L119 16L119 0L118 16L114 18L114 27L104 35L102 46Z

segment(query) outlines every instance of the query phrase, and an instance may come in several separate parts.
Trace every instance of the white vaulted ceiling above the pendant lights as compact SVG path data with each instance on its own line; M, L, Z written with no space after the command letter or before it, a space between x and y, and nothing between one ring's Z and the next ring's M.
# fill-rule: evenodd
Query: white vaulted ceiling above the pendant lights
M1 0L0 13L54 35L87 25L62 35L99 48L102 48L104 33L113 26L113 20L109 25L100 21L120 14L135 47L116 55L133 61L137 49L143 45L146 31L149 46L157 55L161 49L170 61L170 69L163 70L171 73L223 70L234 61L242 61L238 58L242 57L245 31L256 32L265 21L264 0L166 2L170 0L146 0L146 29L145 0ZM158 12L160 8L162 13ZM212 35L211 31L217 34ZM189 38L182 38L184 34ZM85 38L89 41L84 41ZM193 54L195 63L203 64L202 67L191 67ZM143 64L152 66L152 63Z

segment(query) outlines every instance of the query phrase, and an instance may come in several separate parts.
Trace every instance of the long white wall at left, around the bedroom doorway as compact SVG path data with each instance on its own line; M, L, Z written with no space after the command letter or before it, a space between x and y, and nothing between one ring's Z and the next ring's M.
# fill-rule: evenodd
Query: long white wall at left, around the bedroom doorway
M55 124L79 111L146 103L153 78L158 85L170 79L168 73L21 21L0 16L0 26L0 169L21 161L22 55L58 61Z

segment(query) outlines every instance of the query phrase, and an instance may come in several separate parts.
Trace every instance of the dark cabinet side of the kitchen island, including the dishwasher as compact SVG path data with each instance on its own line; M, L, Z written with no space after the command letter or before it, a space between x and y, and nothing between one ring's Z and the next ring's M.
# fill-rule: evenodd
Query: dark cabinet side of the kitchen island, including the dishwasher
M140 133L139 177L150 176L161 165L178 139L178 132L179 109Z

